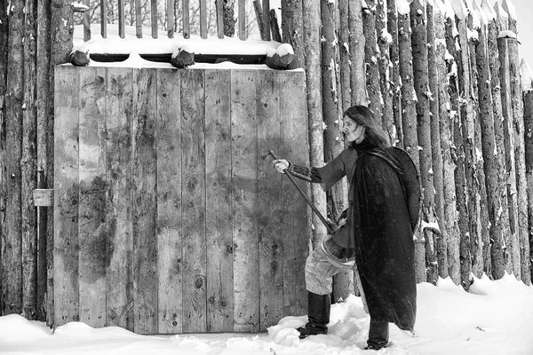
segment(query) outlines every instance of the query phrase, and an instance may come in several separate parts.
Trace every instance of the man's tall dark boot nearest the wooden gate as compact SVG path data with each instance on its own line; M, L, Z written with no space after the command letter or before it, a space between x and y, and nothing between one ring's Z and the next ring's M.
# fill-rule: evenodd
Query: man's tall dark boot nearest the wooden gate
M328 334L328 323L330 323L330 295L316 295L312 292L307 294L307 324L298 327L299 338L303 339L309 335Z

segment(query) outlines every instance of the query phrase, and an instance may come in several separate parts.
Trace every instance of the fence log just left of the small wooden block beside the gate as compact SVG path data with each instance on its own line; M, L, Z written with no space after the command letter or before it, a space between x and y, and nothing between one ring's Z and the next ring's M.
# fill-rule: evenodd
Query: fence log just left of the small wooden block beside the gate
M24 21L24 101L22 114L21 217L22 217L22 315L36 319L37 312L37 216L33 191L37 185L36 51L37 9L29 0Z

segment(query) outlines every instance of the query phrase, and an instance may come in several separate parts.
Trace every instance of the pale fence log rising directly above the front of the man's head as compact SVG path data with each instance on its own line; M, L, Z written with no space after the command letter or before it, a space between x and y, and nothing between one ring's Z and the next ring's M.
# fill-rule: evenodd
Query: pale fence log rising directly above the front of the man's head
M352 105L367 105L366 79L364 70L364 35L362 31L362 0L348 1L348 23L350 31L350 83Z

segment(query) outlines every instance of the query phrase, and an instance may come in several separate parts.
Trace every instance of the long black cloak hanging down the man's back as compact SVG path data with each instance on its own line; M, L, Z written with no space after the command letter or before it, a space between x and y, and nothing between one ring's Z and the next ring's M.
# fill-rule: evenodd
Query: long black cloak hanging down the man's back
M356 145L352 223L355 262L370 319L413 331L420 185L410 156L396 147Z

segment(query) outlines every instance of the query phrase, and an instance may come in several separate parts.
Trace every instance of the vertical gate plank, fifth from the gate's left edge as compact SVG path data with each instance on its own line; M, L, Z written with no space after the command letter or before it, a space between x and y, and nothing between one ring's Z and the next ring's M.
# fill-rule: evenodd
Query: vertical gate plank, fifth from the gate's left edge
M157 71L158 333L182 332L180 75Z

